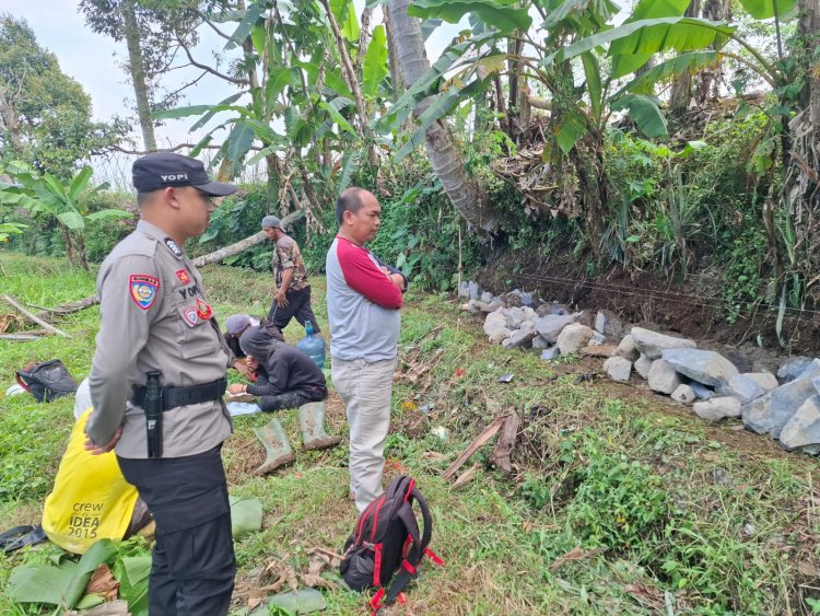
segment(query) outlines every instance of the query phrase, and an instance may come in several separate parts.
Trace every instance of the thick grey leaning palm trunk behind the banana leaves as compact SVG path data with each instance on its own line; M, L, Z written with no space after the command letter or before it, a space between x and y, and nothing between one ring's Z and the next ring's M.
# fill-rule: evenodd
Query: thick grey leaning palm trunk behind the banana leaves
M406 83L411 84L430 69L430 62L424 53L419 20L411 18L407 12L410 0L390 0L387 12L394 27L401 75ZM434 100L434 96L429 96L419 103L413 109L415 116L423 114ZM438 120L427 128L424 144L433 171L442 182L453 206L468 225L495 233L499 221L492 204L483 189L468 177L447 124Z

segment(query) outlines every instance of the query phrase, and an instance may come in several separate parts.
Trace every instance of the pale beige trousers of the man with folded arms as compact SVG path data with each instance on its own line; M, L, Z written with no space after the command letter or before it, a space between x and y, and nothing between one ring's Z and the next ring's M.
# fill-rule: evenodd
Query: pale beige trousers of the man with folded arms
M350 489L360 512L384 491L382 476L396 361L332 360L333 386L348 411Z

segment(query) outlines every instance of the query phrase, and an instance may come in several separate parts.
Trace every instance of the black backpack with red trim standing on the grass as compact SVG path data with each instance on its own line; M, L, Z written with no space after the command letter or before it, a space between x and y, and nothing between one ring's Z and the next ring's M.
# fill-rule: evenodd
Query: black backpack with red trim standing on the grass
M419 504L423 530L419 531L413 512ZM442 560L427 548L433 532L427 501L407 476L396 477L387 491L371 502L359 516L353 533L344 544L340 570L355 591L378 589L371 606L378 612L398 598L415 578L417 568L426 554L433 562ZM398 572L397 572L398 571ZM393 583L390 583L393 580ZM389 584L389 588L388 588Z

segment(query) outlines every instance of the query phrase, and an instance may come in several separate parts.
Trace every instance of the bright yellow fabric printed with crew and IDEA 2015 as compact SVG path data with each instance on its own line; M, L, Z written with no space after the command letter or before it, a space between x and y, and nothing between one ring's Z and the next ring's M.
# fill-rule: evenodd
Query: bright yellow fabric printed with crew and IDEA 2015
M74 422L43 510L48 538L75 554L85 554L97 539L121 539L139 498L137 488L122 477L114 452L92 455L85 451L91 410Z

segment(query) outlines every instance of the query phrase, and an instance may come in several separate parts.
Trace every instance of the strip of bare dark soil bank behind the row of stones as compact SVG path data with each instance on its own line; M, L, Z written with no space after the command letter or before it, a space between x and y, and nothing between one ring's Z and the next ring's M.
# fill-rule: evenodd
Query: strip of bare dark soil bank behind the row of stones
M658 272L613 268L606 276L589 278L577 260L497 251L476 281L499 294L518 288L574 310L610 310L624 325L678 334L696 340L699 348L719 351L736 363L746 362L748 368L739 365L741 371L755 365L776 371L789 355L820 357L820 314L785 315L783 337L788 346L783 348L777 342L776 310L761 307L728 323L718 299L722 282L707 275L690 275L679 282Z

